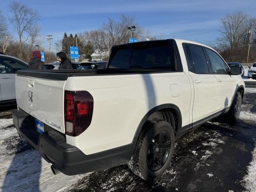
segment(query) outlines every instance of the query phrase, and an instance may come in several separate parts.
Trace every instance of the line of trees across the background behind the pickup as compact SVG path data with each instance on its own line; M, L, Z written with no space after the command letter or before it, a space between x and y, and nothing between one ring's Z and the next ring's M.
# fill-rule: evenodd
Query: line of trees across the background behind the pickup
M39 21L40 14L22 2L13 0L8 6L10 16L5 17L0 10L0 52L18 57L24 61L29 60L35 45L44 50L43 44L46 39L41 32ZM247 62L248 48L250 42L250 54L248 62L256 61L256 18L244 12L234 12L226 14L220 19L220 37L216 38L215 48L227 62ZM10 31L10 27L14 31ZM89 58L94 50L110 50L114 45L128 42L132 32L128 26L136 26L134 38L139 41L156 40L141 26L134 17L121 14L118 20L108 18L102 26L96 30L77 32L76 34L66 34L62 40L55 43L56 50L63 50L69 54L69 46L78 46L79 54L84 58ZM45 52L46 62L54 61L53 53Z

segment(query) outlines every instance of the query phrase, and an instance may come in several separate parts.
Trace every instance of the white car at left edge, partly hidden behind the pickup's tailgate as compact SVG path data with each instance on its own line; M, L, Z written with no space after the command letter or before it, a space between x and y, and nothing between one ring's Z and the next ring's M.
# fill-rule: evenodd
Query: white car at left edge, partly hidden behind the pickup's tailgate
M0 53L0 106L7 106L16 103L15 75L17 70L27 70L27 63Z

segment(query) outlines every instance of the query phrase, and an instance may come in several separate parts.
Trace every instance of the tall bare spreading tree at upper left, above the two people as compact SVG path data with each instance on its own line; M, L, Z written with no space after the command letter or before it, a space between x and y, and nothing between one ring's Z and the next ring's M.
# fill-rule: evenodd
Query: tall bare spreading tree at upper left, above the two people
M38 22L40 15L36 10L16 0L10 3L9 8L10 12L12 12L12 16L9 19L18 33L20 56L22 56L22 44L29 39L30 30Z

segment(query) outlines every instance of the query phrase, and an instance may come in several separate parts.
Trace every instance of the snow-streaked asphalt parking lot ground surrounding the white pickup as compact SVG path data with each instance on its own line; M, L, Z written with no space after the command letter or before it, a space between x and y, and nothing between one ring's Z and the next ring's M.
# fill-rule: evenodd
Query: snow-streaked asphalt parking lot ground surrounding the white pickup
M216 118L176 141L166 172L146 182L115 167L78 176L54 176L50 164L20 140L11 108L0 112L0 186L10 191L256 191L256 82L246 81L240 120Z

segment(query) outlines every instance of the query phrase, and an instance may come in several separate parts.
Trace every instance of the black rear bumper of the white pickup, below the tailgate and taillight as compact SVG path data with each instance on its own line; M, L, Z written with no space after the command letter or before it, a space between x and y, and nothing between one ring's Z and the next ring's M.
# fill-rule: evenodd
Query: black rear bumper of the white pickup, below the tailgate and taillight
M77 147L66 143L65 135L44 124L44 133L35 129L34 118L23 110L12 112L14 126L41 156L66 175L76 175L126 164L131 146L123 146L85 155Z

